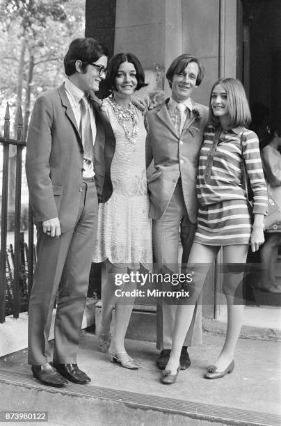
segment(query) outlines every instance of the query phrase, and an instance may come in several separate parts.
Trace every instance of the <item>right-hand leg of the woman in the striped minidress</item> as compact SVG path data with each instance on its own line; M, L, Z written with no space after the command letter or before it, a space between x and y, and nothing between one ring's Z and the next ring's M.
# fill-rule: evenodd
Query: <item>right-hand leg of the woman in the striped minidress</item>
M243 265L246 263L247 253L248 245L246 244L224 246L223 262L226 265L232 263ZM242 301L241 304L237 304L234 294L242 280L243 271L236 274L230 271L224 276L223 291L227 300L227 333L223 349L214 364L218 372L225 370L234 358L234 350L241 331L244 310Z

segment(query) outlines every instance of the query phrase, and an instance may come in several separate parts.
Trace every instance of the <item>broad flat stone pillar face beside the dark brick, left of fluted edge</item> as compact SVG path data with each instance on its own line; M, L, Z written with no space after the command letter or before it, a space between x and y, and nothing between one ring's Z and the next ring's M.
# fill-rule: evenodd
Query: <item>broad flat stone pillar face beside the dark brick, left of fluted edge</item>
M182 54L182 0L117 0L114 52L136 54L150 86L168 95L165 72Z

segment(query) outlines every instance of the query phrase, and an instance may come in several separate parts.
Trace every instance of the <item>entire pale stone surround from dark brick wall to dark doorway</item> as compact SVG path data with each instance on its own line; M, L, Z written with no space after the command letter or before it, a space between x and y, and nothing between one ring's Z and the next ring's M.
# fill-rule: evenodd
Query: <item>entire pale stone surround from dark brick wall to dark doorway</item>
M207 104L214 81L236 75L236 1L116 0L114 52L138 56L150 82L147 92L156 90L160 68L165 95L172 59L184 52L198 56L205 77L194 97Z

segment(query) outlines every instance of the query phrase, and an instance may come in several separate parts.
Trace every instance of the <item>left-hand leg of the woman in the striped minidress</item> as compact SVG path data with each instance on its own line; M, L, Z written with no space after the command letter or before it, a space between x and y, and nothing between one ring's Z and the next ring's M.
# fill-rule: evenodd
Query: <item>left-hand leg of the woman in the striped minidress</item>
M171 374L175 374L177 372L182 345L184 343L186 332L191 324L195 302L200 295L207 272L209 271L209 268L214 262L217 254L218 247L216 246L204 246L202 244L193 243L191 248L191 253L188 258L188 270L192 269L192 265L196 265L198 267L202 264L202 266L195 272L193 279L196 290L193 296L194 300L188 299L190 304L180 304L177 306L175 326L172 334L172 350L166 367L166 370L171 370ZM198 259L200 259L200 262L198 262Z

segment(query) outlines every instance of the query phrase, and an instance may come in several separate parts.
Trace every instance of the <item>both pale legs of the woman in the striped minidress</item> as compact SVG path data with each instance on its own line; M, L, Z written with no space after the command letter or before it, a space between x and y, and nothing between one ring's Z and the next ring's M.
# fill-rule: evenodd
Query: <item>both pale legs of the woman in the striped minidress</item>
M184 337L191 324L195 301L198 299L204 279L207 276L209 268L213 264L220 247L204 246L203 244L193 243L191 253L188 258L188 271L194 271L193 285L194 292L188 299L188 304L179 304L175 315L175 326L172 335L172 350L166 370L171 370L172 374L177 372L179 366L179 357L181 354ZM216 362L218 371L223 371L231 363L234 357L234 349L241 331L243 320L243 299L240 298L237 303L236 294L243 280L243 271L239 273L231 272L231 264L244 265L246 263L248 245L239 244L235 246L223 246L223 264L230 265L230 271L224 274L223 292L227 301L227 333L223 349L221 350ZM198 262L200 259L200 263ZM194 265L194 268L192 267ZM235 267L234 267L235 268ZM241 269L241 266L240 266ZM242 266L243 269L243 266ZM187 272L188 272L187 271ZM236 268L237 271L237 268ZM241 284L242 285L242 284ZM241 287L240 285L240 287ZM192 290L192 285L191 285Z

